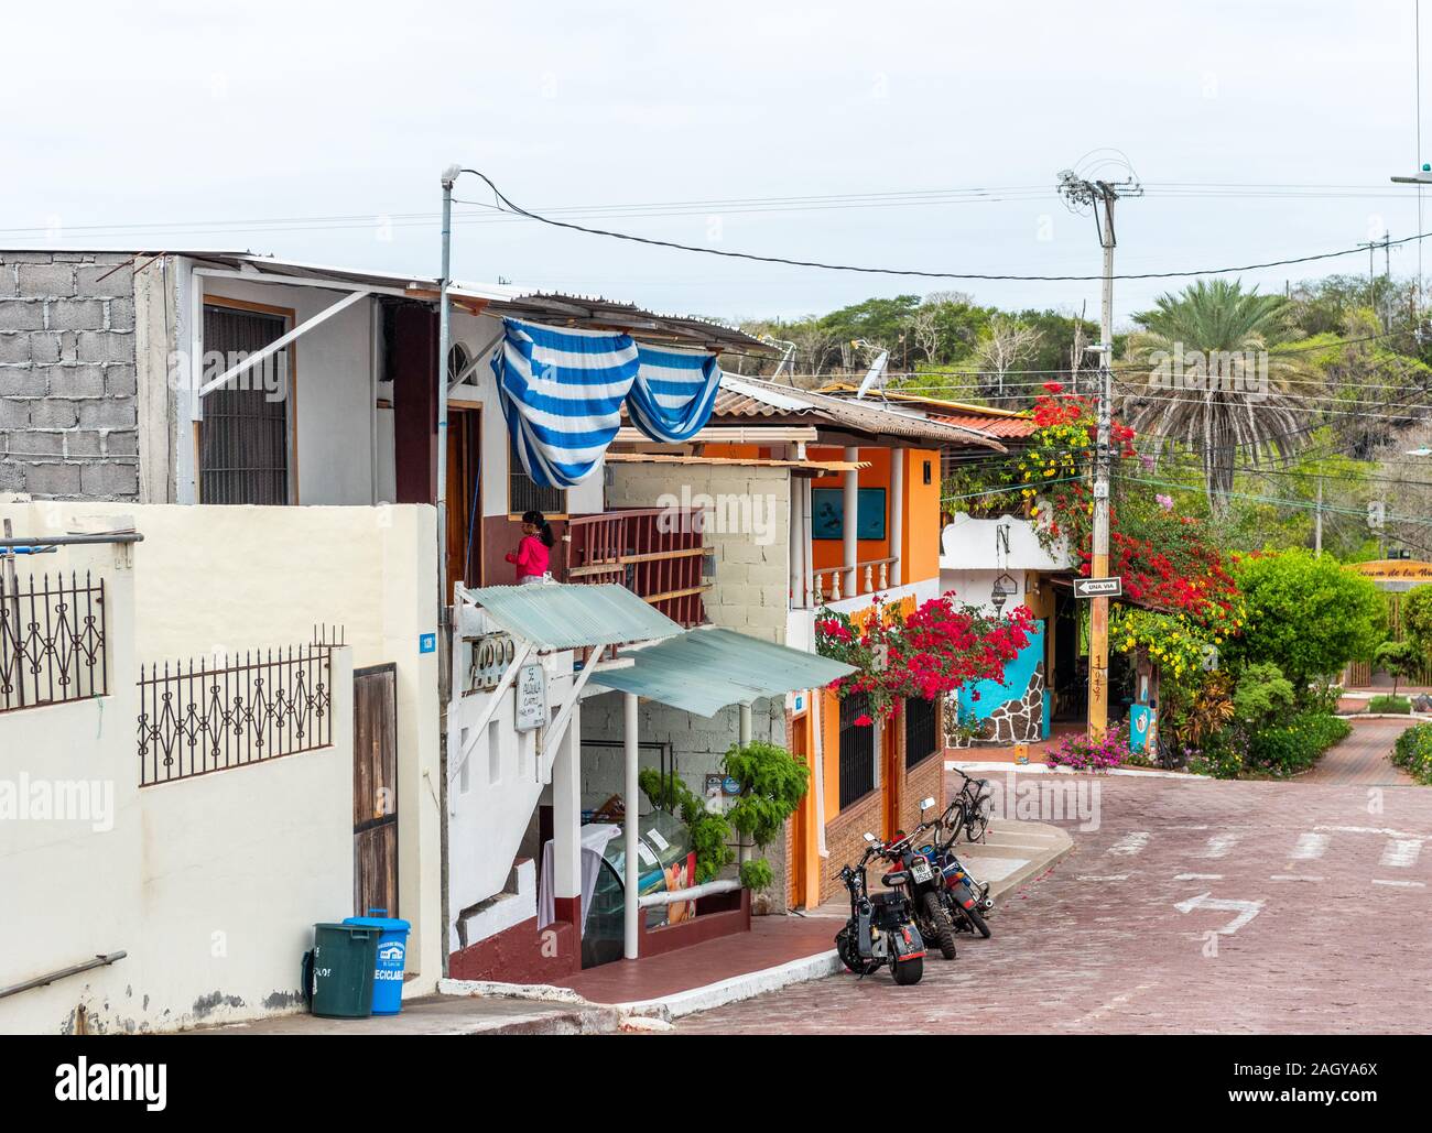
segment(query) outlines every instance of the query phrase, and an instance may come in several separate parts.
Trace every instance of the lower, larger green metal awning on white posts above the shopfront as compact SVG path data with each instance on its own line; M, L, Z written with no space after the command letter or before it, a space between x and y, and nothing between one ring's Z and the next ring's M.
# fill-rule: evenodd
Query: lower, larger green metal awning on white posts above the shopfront
M630 668L597 670L591 682L712 717L730 704L750 704L800 688L823 688L855 670L732 629L690 629L623 654Z

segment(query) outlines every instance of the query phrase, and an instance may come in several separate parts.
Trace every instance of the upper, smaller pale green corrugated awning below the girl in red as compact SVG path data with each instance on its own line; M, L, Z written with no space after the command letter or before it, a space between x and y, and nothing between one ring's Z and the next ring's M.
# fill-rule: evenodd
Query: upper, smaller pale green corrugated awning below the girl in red
M503 629L538 649L580 649L680 634L682 627L626 587L550 582L468 591Z

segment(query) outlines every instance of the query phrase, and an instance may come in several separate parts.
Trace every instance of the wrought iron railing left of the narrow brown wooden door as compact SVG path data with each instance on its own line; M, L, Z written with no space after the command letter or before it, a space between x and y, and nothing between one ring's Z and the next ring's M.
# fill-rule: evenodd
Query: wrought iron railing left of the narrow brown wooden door
M232 665L208 659L139 668L139 785L296 755L332 742L332 649L255 649Z

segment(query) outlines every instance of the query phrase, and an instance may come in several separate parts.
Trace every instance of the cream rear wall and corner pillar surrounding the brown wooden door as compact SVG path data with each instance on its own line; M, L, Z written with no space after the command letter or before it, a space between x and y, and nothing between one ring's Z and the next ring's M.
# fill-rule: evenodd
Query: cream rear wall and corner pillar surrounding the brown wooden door
M414 924L408 970L418 976L404 990L435 987L442 964L438 665L437 652L420 652L420 635L437 631L434 509L44 502L0 504L4 516L19 535L132 524L145 536L133 549L140 661L298 645L315 624L338 624L355 667L395 664L398 914ZM59 566L76 554L47 562ZM0 737L16 715L0 722ZM132 747L133 715L126 727ZM344 761L351 775L351 755ZM348 821L351 828L351 813Z

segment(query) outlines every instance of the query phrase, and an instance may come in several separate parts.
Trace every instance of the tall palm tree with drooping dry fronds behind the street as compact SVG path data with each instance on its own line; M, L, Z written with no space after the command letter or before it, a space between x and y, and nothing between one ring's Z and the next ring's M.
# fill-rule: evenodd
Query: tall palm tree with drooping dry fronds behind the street
M1282 296L1221 279L1200 279L1134 315L1127 358L1148 376L1124 395L1124 419L1157 438L1156 456L1167 441L1200 453L1216 514L1226 512L1240 455L1253 465L1286 458L1303 439L1303 399L1290 381L1316 371L1289 349L1299 332L1287 315Z

